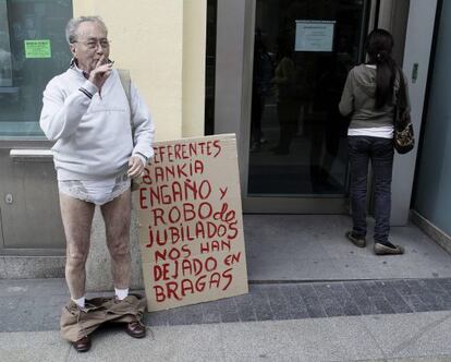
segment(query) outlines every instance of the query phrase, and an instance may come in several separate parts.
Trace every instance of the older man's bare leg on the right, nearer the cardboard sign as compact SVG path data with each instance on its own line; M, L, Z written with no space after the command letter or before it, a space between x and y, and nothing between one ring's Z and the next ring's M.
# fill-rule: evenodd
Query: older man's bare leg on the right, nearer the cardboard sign
M131 274L130 219L132 201L130 189L101 206L107 245L111 255L111 273L117 289L127 289Z

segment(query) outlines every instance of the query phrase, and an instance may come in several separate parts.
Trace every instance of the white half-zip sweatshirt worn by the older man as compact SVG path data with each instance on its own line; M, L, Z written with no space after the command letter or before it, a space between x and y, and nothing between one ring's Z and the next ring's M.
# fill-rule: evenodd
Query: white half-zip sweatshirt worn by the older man
M144 99L132 84L130 112L117 70L99 94L73 67L48 83L42 102L39 123L46 136L57 141L52 150L60 181L105 179L126 169L132 155L154 156L155 126Z

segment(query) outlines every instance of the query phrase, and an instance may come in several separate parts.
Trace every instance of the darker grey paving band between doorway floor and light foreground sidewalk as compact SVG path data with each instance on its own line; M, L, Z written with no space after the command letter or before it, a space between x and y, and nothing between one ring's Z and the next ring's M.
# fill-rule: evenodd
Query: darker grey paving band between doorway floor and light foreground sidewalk
M0 333L57 330L68 298L63 279L0 280ZM176 326L436 311L451 311L451 278L254 283L248 294L147 313L145 321Z

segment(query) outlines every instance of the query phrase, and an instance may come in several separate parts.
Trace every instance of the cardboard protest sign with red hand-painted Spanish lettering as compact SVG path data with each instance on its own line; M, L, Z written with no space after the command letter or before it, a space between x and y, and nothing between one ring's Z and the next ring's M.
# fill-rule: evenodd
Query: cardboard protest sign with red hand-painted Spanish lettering
M247 289L234 135L159 142L134 205L149 311Z

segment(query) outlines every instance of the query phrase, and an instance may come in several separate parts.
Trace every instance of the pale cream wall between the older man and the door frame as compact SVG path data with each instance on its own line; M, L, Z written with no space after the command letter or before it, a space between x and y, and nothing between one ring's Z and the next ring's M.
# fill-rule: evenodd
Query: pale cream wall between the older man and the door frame
M157 140L204 132L206 0L74 0L74 16L100 15L115 67L130 69Z

